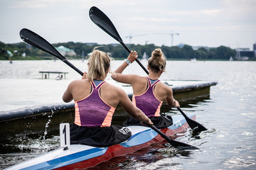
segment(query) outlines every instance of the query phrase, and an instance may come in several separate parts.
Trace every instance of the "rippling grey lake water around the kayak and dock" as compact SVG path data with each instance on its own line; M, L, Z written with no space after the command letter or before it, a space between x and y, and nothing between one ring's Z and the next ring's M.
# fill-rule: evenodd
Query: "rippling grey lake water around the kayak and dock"
M87 69L86 62L71 62L82 71ZM113 61L112 69L121 62ZM210 98L181 103L182 110L196 113L198 123L208 130L193 134L188 129L176 140L201 150L181 152L162 142L111 159L93 169L256 169L256 63L169 61L167 66L161 79L218 81L217 86L210 88ZM39 71L69 74L66 80L57 81L54 76L42 80ZM146 75L136 63L127 67L124 73ZM73 79L80 79L80 75L60 61L14 61L13 64L1 61L0 111L61 102L63 91ZM168 112L179 114L175 108ZM11 142L2 147L6 152L0 154L0 167L59 146L58 135L49 133L16 137Z

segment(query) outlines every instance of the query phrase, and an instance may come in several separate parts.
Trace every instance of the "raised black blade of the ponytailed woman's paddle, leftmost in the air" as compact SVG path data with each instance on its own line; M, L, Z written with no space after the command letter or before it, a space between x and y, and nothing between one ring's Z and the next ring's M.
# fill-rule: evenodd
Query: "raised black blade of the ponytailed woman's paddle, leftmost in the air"
M40 50L43 50L44 52L47 52L48 54L53 55L60 60L66 60L65 57L60 55L60 52L58 52L58 50L53 47L53 45L50 45L47 40L34 33L33 31L28 30L27 28L23 28L20 31L20 37L23 41L33 45L34 47L37 47Z

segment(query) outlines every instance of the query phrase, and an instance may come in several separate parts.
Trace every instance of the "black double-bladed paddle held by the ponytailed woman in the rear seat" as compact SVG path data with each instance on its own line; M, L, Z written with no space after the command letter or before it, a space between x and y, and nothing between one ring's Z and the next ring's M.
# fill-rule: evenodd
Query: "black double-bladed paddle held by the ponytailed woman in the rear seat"
M33 45L34 47L37 47L38 49L43 50L44 52L47 52L48 54L53 55L58 59L60 59L61 61L65 62L66 64L68 64L68 66L75 69L75 71L77 71L79 74L81 75L83 74L83 72L81 72L77 67L75 67L73 64L68 62L68 60L66 60L66 58L63 57L63 55L61 55L60 52L58 52L58 50L55 49L55 47L53 47L53 45L50 45L50 43L44 38L42 38L40 35L34 33L31 30L23 28L20 31L20 37L23 41L27 42L28 44ZM191 145L188 145L182 142L171 140L171 138L167 137L163 132L161 132L156 127L154 127L154 125L149 125L149 127L155 130L157 133L159 133L159 135L164 137L164 139L166 139L174 147L186 147L189 149L198 149L197 147L193 147Z

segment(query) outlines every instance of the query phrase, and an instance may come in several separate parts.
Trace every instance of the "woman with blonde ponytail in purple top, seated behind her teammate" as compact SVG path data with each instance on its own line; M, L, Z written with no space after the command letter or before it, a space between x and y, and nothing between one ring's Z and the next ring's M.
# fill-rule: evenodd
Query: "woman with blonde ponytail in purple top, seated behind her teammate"
M118 104L133 118L153 125L122 89L105 81L108 72L110 57L106 52L94 49L88 60L88 71L82 79L72 81L63 94L63 101L75 101L75 122L70 127L71 144L109 147L131 137L128 128L111 125Z

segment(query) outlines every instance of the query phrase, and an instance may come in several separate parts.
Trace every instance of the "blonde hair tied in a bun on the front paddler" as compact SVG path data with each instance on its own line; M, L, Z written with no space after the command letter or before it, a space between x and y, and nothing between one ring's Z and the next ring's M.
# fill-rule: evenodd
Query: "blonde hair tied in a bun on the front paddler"
M148 60L148 66L153 72L165 71L166 57L160 48L156 48Z

